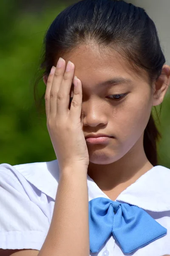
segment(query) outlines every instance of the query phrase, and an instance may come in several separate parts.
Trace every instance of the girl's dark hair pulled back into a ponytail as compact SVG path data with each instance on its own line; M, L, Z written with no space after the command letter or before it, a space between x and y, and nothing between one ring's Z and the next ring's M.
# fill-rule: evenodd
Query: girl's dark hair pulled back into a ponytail
M150 83L161 75L164 54L156 26L144 9L123 0L82 0L63 10L45 34L40 64L43 73L34 85L38 108L45 96L44 92L40 101L36 99L37 85L42 76L49 75L51 67L62 54L89 41L121 52L134 70L147 71ZM156 114L159 119L157 111ZM159 138L161 134L151 113L144 130L144 151L153 166L158 165L156 143Z

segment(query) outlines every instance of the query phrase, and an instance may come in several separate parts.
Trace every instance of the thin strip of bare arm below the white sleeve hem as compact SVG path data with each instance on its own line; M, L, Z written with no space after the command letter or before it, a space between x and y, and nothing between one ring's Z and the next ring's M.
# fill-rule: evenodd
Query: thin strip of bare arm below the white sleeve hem
M37 256L38 250L3 250L0 249L0 256Z

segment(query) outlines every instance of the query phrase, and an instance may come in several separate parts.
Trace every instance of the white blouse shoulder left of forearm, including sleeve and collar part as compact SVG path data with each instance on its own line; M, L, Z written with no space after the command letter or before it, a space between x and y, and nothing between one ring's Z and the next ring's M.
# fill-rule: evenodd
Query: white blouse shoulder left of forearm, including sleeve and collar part
M57 162L0 164L0 248L40 250L58 185Z

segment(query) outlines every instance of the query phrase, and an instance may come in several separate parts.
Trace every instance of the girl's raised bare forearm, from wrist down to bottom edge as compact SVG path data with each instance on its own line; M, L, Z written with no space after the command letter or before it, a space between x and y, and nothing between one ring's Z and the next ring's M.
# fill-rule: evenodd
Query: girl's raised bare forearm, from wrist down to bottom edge
M87 171L82 167L60 175L53 217L39 256L89 256Z

